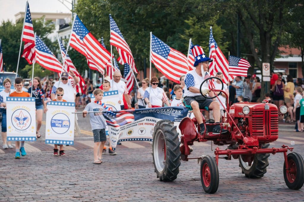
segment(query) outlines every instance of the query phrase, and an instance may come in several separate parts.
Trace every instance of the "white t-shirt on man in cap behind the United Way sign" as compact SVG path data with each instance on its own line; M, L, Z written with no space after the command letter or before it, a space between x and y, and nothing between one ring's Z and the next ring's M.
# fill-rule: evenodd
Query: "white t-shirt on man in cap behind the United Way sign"
M75 102L76 91L74 90L74 79L68 79L66 84L62 83L61 81L56 81L52 88L52 94L56 95L56 90L59 87L63 88L64 90L64 100L66 100L67 102Z

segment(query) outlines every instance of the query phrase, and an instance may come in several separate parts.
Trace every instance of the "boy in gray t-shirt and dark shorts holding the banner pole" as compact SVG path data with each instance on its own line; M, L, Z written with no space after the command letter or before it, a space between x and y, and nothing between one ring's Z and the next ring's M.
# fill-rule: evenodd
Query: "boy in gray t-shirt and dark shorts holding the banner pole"
M94 164L101 164L102 149L105 146L105 142L107 141L107 137L105 135L106 122L102 114L102 111L106 110L106 106L101 102L103 91L100 88L95 89L93 91L93 94L95 96L95 101L89 103L85 107L85 110L82 111L82 117L85 118L88 114L88 111L96 111L90 113L90 123L94 135Z

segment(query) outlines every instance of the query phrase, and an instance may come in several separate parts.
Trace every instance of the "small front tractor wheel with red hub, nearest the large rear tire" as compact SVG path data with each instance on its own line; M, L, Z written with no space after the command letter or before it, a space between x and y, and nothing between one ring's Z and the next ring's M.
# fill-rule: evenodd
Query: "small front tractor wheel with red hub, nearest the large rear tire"
M219 170L216 161L211 156L205 156L201 162L201 182L204 191L213 194L219 187Z

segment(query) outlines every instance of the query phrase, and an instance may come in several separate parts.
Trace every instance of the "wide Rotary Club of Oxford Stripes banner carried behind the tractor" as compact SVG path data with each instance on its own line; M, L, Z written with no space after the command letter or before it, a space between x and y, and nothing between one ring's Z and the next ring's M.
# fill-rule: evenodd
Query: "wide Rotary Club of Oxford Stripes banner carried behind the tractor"
M178 125L188 114L185 107L161 107L103 113L109 129L109 140L115 148L117 141L153 141L152 134L157 121L168 119Z

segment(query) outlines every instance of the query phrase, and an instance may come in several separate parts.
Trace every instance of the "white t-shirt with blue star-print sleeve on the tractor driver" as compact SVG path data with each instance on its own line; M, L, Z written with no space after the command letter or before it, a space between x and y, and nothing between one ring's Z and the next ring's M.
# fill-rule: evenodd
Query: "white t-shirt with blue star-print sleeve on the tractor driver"
M200 93L192 93L191 91L189 91L189 88L190 87L195 87L195 88L198 88L201 86L202 82L205 81L204 77L206 74L209 74L208 71L205 71L203 72L203 76L199 76L195 69L194 70L191 70L191 71L188 71L188 73L186 74L185 76L185 87L184 90L184 97L187 96L187 97L194 97L194 96L197 96L197 95L201 95ZM209 74L210 76L210 74ZM204 89L208 89L208 84L209 84L209 81L208 80L207 82L204 83L204 85L202 86L202 90Z

